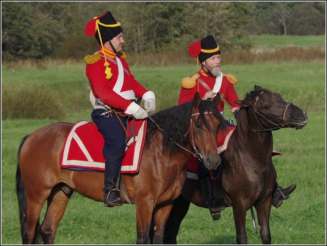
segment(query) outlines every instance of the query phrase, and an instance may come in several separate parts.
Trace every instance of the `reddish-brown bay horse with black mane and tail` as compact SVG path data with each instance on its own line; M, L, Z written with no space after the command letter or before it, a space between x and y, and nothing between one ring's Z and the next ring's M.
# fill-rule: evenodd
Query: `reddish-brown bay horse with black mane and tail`
M152 219L156 226L154 243L163 244L165 224L186 180L185 165L192 151L199 151L208 169L219 165L216 137L218 125L226 127L226 123L216 108L218 103L219 98L203 101L197 95L192 102L154 114L154 122L147 120L139 171L121 174L119 188L124 203L135 204L137 244L148 243ZM73 125L57 122L44 126L25 136L19 147L16 193L23 244L40 244L41 240L54 243L74 191L103 202L103 172L60 167L64 141Z

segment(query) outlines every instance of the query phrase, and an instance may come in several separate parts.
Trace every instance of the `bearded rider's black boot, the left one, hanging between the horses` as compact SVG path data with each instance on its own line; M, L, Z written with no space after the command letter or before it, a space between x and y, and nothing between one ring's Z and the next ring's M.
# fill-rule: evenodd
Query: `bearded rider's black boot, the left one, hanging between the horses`
M210 179L210 177L200 179L200 183L202 187L203 198L205 204L209 208L212 219L219 220L220 211L225 209L225 199L223 197L217 196L216 193L214 194L214 185L216 184L215 181Z

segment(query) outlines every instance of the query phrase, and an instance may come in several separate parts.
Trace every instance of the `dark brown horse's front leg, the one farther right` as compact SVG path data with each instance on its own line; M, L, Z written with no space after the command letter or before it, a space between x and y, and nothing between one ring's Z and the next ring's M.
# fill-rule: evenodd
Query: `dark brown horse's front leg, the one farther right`
M260 237L262 244L271 244L269 217L271 210L271 199L265 204L255 208L257 211L258 223L260 225Z

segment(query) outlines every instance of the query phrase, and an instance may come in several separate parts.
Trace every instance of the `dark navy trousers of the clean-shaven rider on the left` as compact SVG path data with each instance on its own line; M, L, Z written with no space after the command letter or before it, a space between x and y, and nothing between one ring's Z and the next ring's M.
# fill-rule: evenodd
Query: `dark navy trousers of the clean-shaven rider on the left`
M91 114L91 118L104 139L102 149L102 154L106 159L104 176L106 178L117 179L123 157L125 156L126 135L117 116L112 113L112 116L106 118L104 115L101 115L104 112L104 109L95 109ZM118 117L126 128L128 116L118 115Z

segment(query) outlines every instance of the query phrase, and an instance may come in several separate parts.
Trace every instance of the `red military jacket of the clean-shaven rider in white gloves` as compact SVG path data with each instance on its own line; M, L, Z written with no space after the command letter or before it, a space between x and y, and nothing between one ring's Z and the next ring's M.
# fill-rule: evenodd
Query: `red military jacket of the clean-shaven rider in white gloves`
M107 74L104 54L102 47L100 46L98 51L100 56L97 54L89 56L88 62L86 61L86 76L89 79L91 90L95 96L95 99L99 98L102 102L110 105L116 109L121 109L126 113L127 108L131 105L130 99L135 99L135 97L143 97L143 95L148 92L140 83L136 81L134 76L130 73L129 66L125 59L118 57L109 49L104 48L106 54L106 61L109 62L110 73L112 77L106 79ZM96 57L96 58L95 58ZM90 59L91 58L91 59ZM100 58L100 59L99 59ZM113 59L113 60L110 60ZM98 61L96 61L99 59ZM119 71L119 61L121 62ZM108 70L108 68L107 68ZM120 81L120 82L119 82ZM119 83L119 84L118 84ZM115 85L117 84L116 88ZM145 98L143 98L145 99Z

